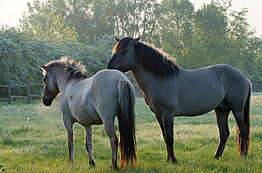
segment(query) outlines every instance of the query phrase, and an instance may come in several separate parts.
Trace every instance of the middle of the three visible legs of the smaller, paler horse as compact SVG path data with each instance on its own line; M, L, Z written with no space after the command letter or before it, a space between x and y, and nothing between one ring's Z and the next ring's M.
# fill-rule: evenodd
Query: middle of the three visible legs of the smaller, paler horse
M84 132L85 132L85 149L88 152L89 156L89 166L95 166L95 161L93 158L93 144L92 144L92 126L85 126L84 127Z

